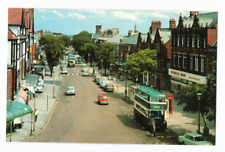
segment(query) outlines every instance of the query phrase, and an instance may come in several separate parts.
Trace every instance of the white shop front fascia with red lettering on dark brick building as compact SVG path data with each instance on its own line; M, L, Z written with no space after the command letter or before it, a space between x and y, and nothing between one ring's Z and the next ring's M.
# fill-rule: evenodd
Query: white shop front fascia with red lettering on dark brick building
M187 73L175 69L169 69L169 75L171 76L171 92L180 90L182 86L191 84L207 84L206 76Z

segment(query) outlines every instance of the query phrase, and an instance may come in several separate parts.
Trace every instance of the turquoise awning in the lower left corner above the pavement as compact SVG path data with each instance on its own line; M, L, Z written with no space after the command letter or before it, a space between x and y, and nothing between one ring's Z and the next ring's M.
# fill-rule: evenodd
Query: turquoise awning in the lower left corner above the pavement
M23 115L32 113L33 110L30 106L8 100L7 101L7 115L6 115L6 121L14 120L15 118L21 117Z

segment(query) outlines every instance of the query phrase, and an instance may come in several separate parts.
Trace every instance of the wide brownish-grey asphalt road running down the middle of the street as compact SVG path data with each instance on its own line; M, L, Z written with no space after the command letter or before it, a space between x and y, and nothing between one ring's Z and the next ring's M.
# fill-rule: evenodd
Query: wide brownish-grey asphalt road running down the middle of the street
M119 94L105 93L93 77L83 77L82 67L68 68L58 92L60 100L46 129L26 142L116 143L116 144L178 144L170 131L150 133L133 116L133 105ZM68 86L74 86L75 96L66 96ZM98 94L105 93L109 105L97 103Z

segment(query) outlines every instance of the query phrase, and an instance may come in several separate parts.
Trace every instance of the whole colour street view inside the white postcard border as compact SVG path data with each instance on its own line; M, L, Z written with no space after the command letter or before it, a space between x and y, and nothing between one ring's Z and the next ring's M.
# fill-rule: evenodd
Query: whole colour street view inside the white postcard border
M216 145L218 12L69 11L8 9L6 142Z

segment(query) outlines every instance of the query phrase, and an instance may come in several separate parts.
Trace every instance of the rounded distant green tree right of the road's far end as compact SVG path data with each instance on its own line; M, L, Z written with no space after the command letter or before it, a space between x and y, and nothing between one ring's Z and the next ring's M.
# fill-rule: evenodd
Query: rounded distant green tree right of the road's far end
M90 33L82 31L79 34L73 36L71 44L74 47L75 51L77 51L81 56L84 55L82 54L83 52L80 50L84 43L91 43L90 35Z

